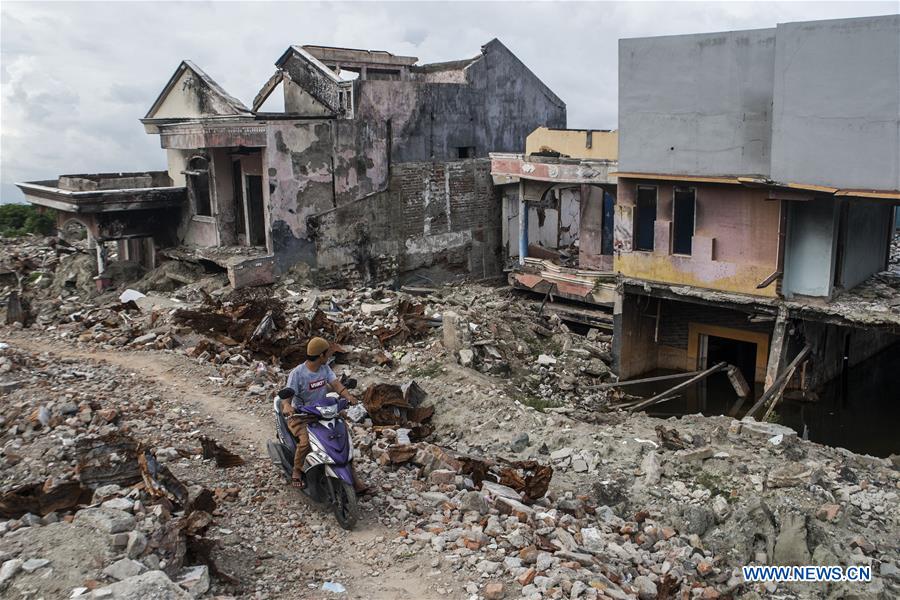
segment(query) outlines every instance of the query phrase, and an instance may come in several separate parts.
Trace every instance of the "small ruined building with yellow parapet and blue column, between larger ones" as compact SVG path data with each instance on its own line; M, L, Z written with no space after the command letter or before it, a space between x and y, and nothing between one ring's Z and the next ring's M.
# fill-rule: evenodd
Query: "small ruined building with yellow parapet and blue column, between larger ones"
M510 285L573 301L554 310L610 329L617 157L616 131L547 127L524 154L491 153Z

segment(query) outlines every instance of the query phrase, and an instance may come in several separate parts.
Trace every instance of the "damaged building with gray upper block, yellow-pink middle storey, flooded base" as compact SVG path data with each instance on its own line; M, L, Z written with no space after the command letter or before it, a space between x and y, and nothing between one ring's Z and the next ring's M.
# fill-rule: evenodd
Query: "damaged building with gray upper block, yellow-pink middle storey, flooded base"
M855 418L847 377L900 340L898 56L897 15L620 40L620 377L724 361L755 397ZM686 410L737 412L723 397Z

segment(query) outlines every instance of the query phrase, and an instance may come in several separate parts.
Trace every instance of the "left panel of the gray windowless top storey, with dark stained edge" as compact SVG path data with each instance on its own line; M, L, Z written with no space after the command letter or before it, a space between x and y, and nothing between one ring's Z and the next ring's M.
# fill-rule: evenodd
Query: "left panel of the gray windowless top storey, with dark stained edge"
M619 40L619 170L767 175L775 29Z

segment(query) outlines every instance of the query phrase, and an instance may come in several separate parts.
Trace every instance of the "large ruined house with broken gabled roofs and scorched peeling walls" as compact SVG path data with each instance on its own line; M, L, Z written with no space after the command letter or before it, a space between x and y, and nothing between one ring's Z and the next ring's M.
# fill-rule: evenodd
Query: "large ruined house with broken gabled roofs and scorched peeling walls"
M320 284L497 276L489 151L521 150L566 107L498 40L474 58L291 46L247 107L184 61L142 123L166 172L19 184L97 247L152 266L160 248L227 268L235 287L291 269ZM284 109L266 112L272 96ZM186 251L186 252L185 252ZM414 274L414 275L413 275ZM101 277L102 279L102 277Z

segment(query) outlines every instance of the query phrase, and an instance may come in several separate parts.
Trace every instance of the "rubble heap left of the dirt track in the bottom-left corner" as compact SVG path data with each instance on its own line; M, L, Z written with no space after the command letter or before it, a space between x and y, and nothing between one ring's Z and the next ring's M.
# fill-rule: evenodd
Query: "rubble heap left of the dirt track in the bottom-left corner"
M0 590L99 598L105 582L119 581L135 597L160 586L196 597L209 589L210 572L229 580L203 536L214 493L164 464L194 449L137 441L155 437L146 422L155 399L134 394L140 382L123 389L112 368L8 347L0 370Z

